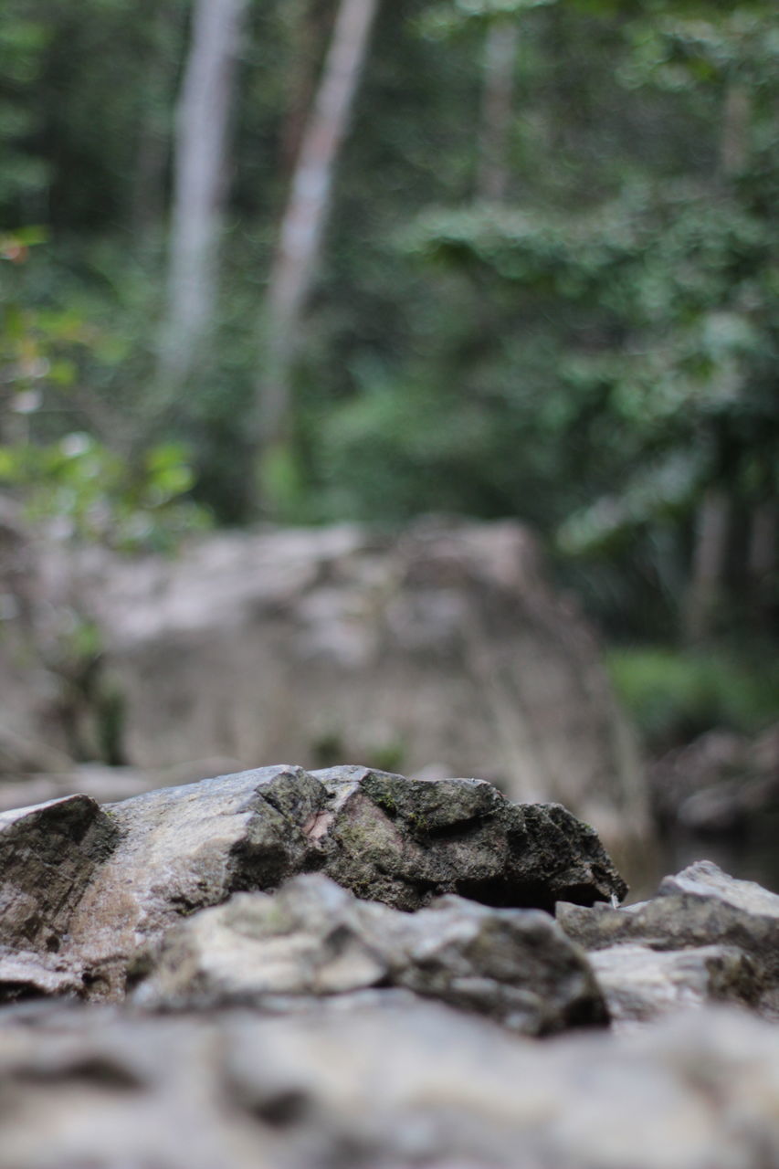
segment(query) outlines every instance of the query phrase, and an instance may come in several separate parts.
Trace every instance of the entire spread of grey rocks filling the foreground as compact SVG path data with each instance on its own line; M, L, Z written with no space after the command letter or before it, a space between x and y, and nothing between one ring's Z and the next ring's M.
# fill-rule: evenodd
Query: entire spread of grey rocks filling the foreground
M0 1169L771 1169L779 897L623 893L476 780L6 812Z

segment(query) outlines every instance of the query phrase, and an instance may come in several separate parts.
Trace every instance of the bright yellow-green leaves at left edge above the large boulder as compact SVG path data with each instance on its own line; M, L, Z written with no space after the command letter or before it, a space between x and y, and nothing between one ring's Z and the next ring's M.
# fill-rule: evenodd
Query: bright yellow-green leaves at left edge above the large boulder
M0 257L16 269L44 238L39 228L8 233L0 237ZM180 443L126 455L70 428L84 364L112 365L123 346L74 310L22 306L13 297L20 284L5 281L0 318L0 401L8 417L0 431L0 487L21 497L32 520L56 521L60 537L126 551L170 549L206 527L208 512L185 498L194 472Z

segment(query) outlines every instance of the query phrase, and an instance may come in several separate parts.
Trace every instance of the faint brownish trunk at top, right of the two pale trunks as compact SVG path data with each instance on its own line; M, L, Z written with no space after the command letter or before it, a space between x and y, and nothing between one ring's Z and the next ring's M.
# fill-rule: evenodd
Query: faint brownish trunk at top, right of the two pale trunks
M516 16L496 16L487 29L476 198L502 203L511 178L511 124L519 43Z

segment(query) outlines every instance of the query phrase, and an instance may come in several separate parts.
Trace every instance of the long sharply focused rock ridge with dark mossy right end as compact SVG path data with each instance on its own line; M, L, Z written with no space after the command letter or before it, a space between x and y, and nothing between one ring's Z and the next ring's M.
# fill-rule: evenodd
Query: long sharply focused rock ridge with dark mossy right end
M0 943L46 957L44 973L54 962L91 998L120 997L138 947L181 915L299 872L407 911L444 893L546 909L626 893L595 832L559 805L356 767L269 767L8 812L0 858Z

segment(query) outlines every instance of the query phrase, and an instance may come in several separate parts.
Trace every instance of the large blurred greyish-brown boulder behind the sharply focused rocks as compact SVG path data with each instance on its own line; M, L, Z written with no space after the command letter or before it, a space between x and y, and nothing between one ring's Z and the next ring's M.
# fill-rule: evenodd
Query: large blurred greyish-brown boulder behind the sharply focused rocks
M36 556L23 611L47 682L30 675L20 696L39 754L64 742L151 770L219 754L234 769L482 775L513 800L564 803L609 846L650 836L597 641L518 524L221 533L175 560ZM27 756L26 770L67 767Z

